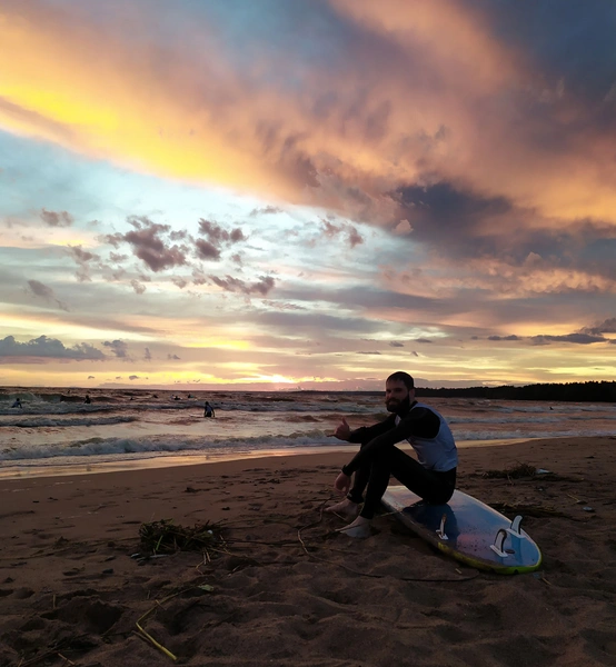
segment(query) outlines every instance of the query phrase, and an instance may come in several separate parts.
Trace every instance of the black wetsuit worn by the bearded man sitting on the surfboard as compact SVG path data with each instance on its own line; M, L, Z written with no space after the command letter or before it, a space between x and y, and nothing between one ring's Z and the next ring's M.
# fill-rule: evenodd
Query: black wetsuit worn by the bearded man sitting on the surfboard
M430 470L395 447L401 440L421 438L436 439L441 428L441 418L426 407L415 407L400 415L396 425L396 415L369 427L351 431L349 442L359 442L361 448L352 460L342 467L349 477L355 472L349 500L364 502L362 517L371 519L387 490L393 475L414 494L428 502L447 502L456 487L456 467L447 470ZM413 444L413 442L411 442ZM364 490L366 499L364 500Z

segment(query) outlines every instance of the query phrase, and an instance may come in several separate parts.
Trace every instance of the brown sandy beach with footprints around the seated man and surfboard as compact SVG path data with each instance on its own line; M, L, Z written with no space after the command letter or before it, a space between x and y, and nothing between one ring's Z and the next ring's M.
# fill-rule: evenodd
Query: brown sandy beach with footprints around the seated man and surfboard
M460 449L458 488L521 514L543 551L517 576L393 516L335 532L322 508L348 459L0 480L0 666L616 664L616 437ZM548 472L490 474L520 464ZM147 558L140 527L167 519L212 541Z

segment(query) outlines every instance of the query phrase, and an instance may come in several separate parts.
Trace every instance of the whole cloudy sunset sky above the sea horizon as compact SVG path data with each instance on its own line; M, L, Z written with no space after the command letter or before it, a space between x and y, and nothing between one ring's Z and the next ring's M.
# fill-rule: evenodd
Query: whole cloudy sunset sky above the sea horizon
M0 0L0 385L616 377L612 0Z

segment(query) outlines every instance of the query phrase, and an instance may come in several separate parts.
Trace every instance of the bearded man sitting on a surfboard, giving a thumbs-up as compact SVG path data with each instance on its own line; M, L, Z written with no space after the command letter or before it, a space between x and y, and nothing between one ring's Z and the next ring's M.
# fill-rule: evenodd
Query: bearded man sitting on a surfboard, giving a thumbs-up
M347 497L326 509L348 517L359 512L352 524L340 530L350 537L370 534L370 521L387 490L390 475L433 504L447 502L456 487L458 452L454 436L441 415L415 400L411 376L398 371L387 378L385 405L391 415L384 421L351 430L342 419L334 432L339 440L361 445L334 484L336 490ZM418 461L395 447L405 439L410 442ZM361 502L364 507L359 511Z

